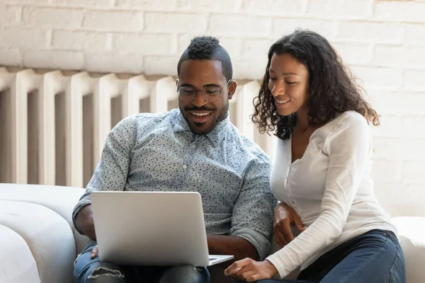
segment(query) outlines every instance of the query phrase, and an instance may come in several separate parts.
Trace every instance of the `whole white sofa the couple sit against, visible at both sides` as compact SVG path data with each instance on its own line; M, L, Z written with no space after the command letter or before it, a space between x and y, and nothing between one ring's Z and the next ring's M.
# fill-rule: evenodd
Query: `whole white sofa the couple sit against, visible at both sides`
M1 283L73 282L73 263L87 238L74 231L71 214L83 193L76 187L0 184ZM393 221L407 282L425 282L425 217ZM212 271L212 282L225 281L221 270Z

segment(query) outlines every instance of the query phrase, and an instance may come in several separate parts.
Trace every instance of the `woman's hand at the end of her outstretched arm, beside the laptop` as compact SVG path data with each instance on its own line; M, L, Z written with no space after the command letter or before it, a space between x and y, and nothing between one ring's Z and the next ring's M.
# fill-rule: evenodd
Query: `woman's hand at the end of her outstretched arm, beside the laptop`
M268 260L255 261L251 258L234 262L225 270L225 275L245 282L270 279L276 273L278 273L278 270Z

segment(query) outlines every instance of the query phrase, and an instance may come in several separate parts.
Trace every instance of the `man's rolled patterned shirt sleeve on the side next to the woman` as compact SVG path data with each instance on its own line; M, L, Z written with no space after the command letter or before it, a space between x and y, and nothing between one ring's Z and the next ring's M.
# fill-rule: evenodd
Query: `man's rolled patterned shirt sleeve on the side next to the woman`
M273 211L277 200L270 189L271 164L261 156L251 161L247 168L242 189L232 212L232 236L249 241L259 253L261 260L270 250L273 231Z

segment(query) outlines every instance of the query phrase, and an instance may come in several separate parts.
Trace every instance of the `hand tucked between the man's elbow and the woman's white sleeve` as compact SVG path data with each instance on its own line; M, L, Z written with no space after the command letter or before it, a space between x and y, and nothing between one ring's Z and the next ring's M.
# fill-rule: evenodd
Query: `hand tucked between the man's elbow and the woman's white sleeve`
M274 212L273 224L274 238L280 247L288 245L294 239L293 233L290 230L290 224L295 224L301 232L305 230L297 212L283 202L280 202Z

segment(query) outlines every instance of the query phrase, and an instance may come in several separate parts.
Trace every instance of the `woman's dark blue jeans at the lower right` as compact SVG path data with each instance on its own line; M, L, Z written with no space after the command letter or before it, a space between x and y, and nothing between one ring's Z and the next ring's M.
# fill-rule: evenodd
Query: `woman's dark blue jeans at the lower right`
M258 281L278 282L405 283L404 254L394 233L375 229L325 253L296 280Z

